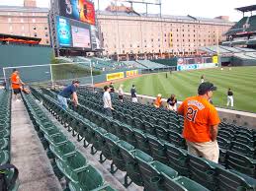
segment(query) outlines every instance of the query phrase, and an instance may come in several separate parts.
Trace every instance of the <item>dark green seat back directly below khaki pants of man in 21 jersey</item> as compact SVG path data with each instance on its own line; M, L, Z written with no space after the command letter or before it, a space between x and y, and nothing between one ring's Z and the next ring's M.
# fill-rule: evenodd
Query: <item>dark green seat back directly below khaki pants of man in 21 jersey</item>
M215 190L216 181L214 170L218 164L204 158L192 156L190 154L188 154L188 156L190 178L209 188L210 190Z

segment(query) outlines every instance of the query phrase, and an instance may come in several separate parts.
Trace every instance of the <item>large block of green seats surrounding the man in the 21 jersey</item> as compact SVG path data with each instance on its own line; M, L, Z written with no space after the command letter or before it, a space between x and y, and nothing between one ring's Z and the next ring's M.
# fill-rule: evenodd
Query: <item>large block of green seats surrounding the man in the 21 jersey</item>
M113 161L112 173L117 168L127 171L126 186L129 177L152 191L256 190L255 130L220 124L217 140L221 165L188 154L181 135L183 117L175 112L129 101L121 103L114 96L114 118L110 118L104 114L102 95L87 90L79 91L78 107L72 107L69 101L72 110L64 111L55 93L33 90L33 95L43 99L43 105L73 136L84 141L84 147L91 145L92 154L101 152L102 162ZM51 151L57 160L62 159L54 149ZM68 177L70 170L66 171ZM79 176L76 183L71 180L69 188L85 186L86 177Z

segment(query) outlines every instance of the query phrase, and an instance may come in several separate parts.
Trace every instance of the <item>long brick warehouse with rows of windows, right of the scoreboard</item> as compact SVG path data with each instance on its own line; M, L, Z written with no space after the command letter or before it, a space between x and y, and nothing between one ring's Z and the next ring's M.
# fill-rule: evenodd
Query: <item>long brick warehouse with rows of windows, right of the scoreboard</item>
M125 6L98 11L104 54L195 53L200 46L215 45L232 26L228 17L138 14Z

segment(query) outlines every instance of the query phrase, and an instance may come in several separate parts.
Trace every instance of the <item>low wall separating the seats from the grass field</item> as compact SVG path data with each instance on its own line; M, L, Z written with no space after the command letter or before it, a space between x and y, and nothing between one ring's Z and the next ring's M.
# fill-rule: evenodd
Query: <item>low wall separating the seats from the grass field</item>
M126 93L127 97L130 97L130 94ZM142 96L137 95L138 102L142 104L148 104L153 105L155 97L153 96ZM164 107L166 107L166 98L163 98L163 104ZM178 101L178 105L181 104L181 101ZM249 113L249 112L243 112L243 111L237 111L237 110L230 110L230 109L224 109L216 107L216 110L218 112L218 115L220 117L220 120L222 122L235 124L238 126L246 126L249 128L256 129L256 114L255 113Z

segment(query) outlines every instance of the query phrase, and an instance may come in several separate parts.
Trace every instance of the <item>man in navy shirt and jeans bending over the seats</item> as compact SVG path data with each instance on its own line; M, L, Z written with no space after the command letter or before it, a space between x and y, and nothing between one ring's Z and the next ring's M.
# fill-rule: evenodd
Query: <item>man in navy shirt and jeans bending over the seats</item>
M72 101L75 106L78 105L78 96L76 94L76 90L79 87L80 82L75 80L72 82L72 85L64 88L57 96L58 102L63 109L67 109L67 98L72 96Z

